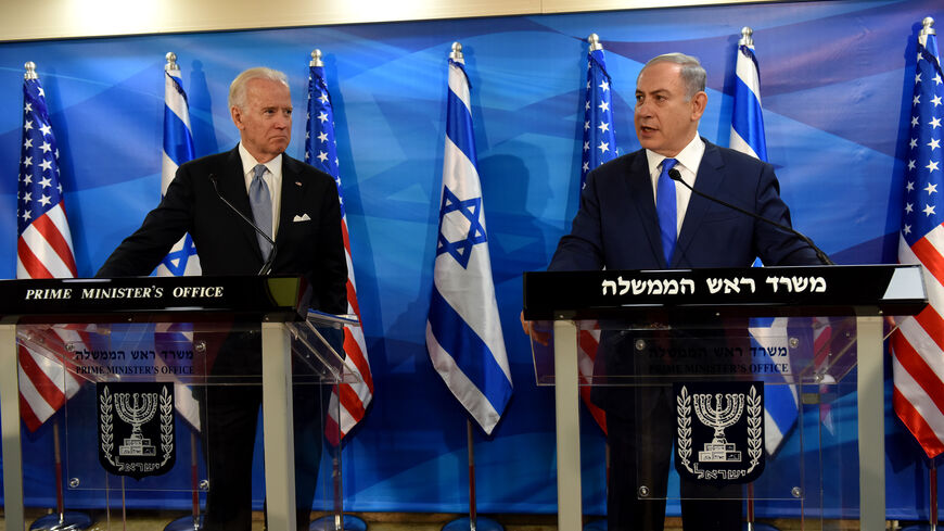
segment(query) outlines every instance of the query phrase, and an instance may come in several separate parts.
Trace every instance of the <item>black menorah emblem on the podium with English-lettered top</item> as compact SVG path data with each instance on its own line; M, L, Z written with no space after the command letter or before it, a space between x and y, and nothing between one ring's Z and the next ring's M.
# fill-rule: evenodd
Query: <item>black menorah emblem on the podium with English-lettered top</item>
M173 383L98 383L95 394L99 462L105 470L141 479L174 467Z

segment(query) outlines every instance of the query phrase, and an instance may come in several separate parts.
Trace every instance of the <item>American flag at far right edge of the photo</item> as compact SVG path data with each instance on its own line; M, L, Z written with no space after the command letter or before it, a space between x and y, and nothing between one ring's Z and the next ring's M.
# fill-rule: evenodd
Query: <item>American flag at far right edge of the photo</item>
M918 37L911 119L904 140L907 151L904 216L898 239L898 262L924 266L930 304L920 314L898 323L892 336L898 418L929 457L944 452L944 81L937 38L926 25Z

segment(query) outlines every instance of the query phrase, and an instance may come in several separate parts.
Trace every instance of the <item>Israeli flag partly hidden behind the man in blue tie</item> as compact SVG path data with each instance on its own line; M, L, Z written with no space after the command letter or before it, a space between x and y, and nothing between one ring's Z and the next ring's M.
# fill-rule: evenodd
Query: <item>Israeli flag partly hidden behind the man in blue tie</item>
M754 55L754 43L751 28L742 30L738 42L737 63L735 66L735 101L731 114L730 148L741 153L767 162L767 140L764 135L764 113L761 108L761 73L757 58ZM755 266L762 265L760 261ZM786 329L786 319L777 319L770 328ZM752 326L752 341L764 343L765 347L786 347L784 344L769 344L770 338L784 342L784 333L761 334L766 326ZM757 332L757 333L754 333ZM761 337L767 338L760 340ZM789 350L784 351L789 352ZM764 388L764 446L773 454L780 447L787 432L796 423L800 417L800 403L794 385L766 385Z

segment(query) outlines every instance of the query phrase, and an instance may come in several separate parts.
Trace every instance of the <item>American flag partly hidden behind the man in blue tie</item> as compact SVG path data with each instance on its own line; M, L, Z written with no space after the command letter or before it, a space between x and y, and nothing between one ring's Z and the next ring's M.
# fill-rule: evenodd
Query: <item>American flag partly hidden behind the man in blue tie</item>
M610 97L610 74L607 73L607 59L603 46L597 34L587 39L587 87L584 101L584 138L581 156L581 190L587 184L587 174L604 162L616 157L616 136L613 132L613 106ZM598 328L582 328L577 337L577 367L581 372L581 399L590 415L607 432L607 415L603 409L590 402L590 383L594 378L594 362L600 345Z

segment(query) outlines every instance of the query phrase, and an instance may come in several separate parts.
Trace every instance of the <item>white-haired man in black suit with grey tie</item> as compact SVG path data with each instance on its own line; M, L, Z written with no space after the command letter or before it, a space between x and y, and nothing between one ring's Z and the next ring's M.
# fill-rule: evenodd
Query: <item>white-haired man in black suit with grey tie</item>
M285 75L263 67L243 72L230 86L229 106L240 143L229 152L181 165L161 204L97 276L148 275L190 232L204 274L256 275L268 261L272 274L307 278L311 307L345 313L347 266L337 189L327 174L284 154L292 129ZM219 195L269 233L275 248L224 203L216 187ZM211 375L259 375L259 336L258 330L250 330L226 337ZM258 387L214 385L195 394L211 484L203 529L248 531L261 392ZM299 530L307 530L321 448L319 427L311 425L323 413L327 395L317 385L296 385L294 394L297 521ZM299 439L302 432L308 438Z

